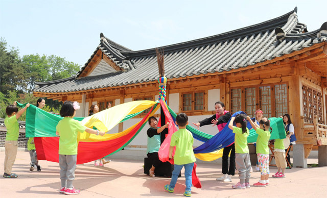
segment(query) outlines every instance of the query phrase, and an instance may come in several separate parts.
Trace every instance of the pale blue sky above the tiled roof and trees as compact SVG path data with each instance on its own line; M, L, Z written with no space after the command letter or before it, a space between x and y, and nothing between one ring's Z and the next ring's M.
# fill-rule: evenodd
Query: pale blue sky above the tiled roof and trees
M221 34L297 6L308 31L327 21L325 1L15 1L0 0L0 37L19 55L65 57L84 65L102 32L131 50Z

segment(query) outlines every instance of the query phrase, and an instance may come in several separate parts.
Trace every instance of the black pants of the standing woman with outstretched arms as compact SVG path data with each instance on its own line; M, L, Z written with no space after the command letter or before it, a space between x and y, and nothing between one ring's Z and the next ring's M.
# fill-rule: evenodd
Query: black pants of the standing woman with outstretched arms
M229 152L230 152L230 159L229 159L229 170L228 170ZM230 146L224 147L222 174L228 174L232 176L235 175L235 144L231 144Z

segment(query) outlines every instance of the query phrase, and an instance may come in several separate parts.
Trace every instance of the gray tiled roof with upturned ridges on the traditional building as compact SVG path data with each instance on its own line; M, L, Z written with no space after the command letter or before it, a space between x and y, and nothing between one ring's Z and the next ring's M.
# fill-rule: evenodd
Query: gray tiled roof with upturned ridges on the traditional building
M223 72L281 57L326 40L320 29L307 31L293 11L246 28L192 41L162 46L168 79ZM284 33L277 38L275 29ZM101 50L123 71L78 78ZM71 92L156 81L159 77L155 48L131 51L101 34L101 42L76 77L39 82L35 92Z

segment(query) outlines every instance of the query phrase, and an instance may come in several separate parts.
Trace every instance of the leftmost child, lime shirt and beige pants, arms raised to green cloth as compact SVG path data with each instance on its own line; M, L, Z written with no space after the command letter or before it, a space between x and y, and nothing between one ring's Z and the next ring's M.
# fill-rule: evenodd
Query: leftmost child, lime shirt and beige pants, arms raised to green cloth
M4 178L17 178L16 174L11 172L12 166L15 162L17 155L17 140L19 135L19 126L17 119L26 111L30 106L28 103L24 108L18 111L16 102L13 105L9 105L6 108L6 114L8 117L5 118L5 125L7 128L6 140L5 140L5 163L4 163Z

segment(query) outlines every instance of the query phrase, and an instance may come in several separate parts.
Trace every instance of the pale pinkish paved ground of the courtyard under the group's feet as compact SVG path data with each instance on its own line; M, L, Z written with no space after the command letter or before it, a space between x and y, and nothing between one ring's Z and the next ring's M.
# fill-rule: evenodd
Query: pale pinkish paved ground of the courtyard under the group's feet
M0 160L5 152L0 152ZM164 190L169 178L150 178L143 174L143 162L126 159L112 159L105 167L93 164L78 165L74 186L81 190L78 197L183 197L184 178L179 178L174 193ZM57 197L60 194L58 163L40 161L42 171L29 171L29 153L19 151L13 166L19 178L0 178L0 197ZM308 163L317 163L317 159L308 159ZM3 170L3 162L0 164ZM270 168L274 174L276 167ZM231 183L216 181L221 174L221 164L198 163L197 173L202 189L192 188L192 197L326 197L327 167L287 169L285 179L269 178L268 187L253 187L245 190L232 189L238 182L238 176ZM182 174L183 175L183 174ZM250 184L256 183L260 172L253 172Z

